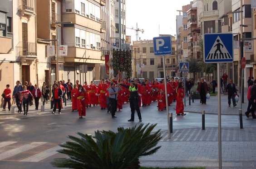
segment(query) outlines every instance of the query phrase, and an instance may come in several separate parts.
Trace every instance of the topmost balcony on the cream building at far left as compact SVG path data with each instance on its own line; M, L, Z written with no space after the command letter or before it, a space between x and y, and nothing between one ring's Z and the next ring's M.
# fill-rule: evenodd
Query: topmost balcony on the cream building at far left
M29 18L31 16L35 16L34 9L35 9L34 0L19 0L20 18L25 14L28 15Z

